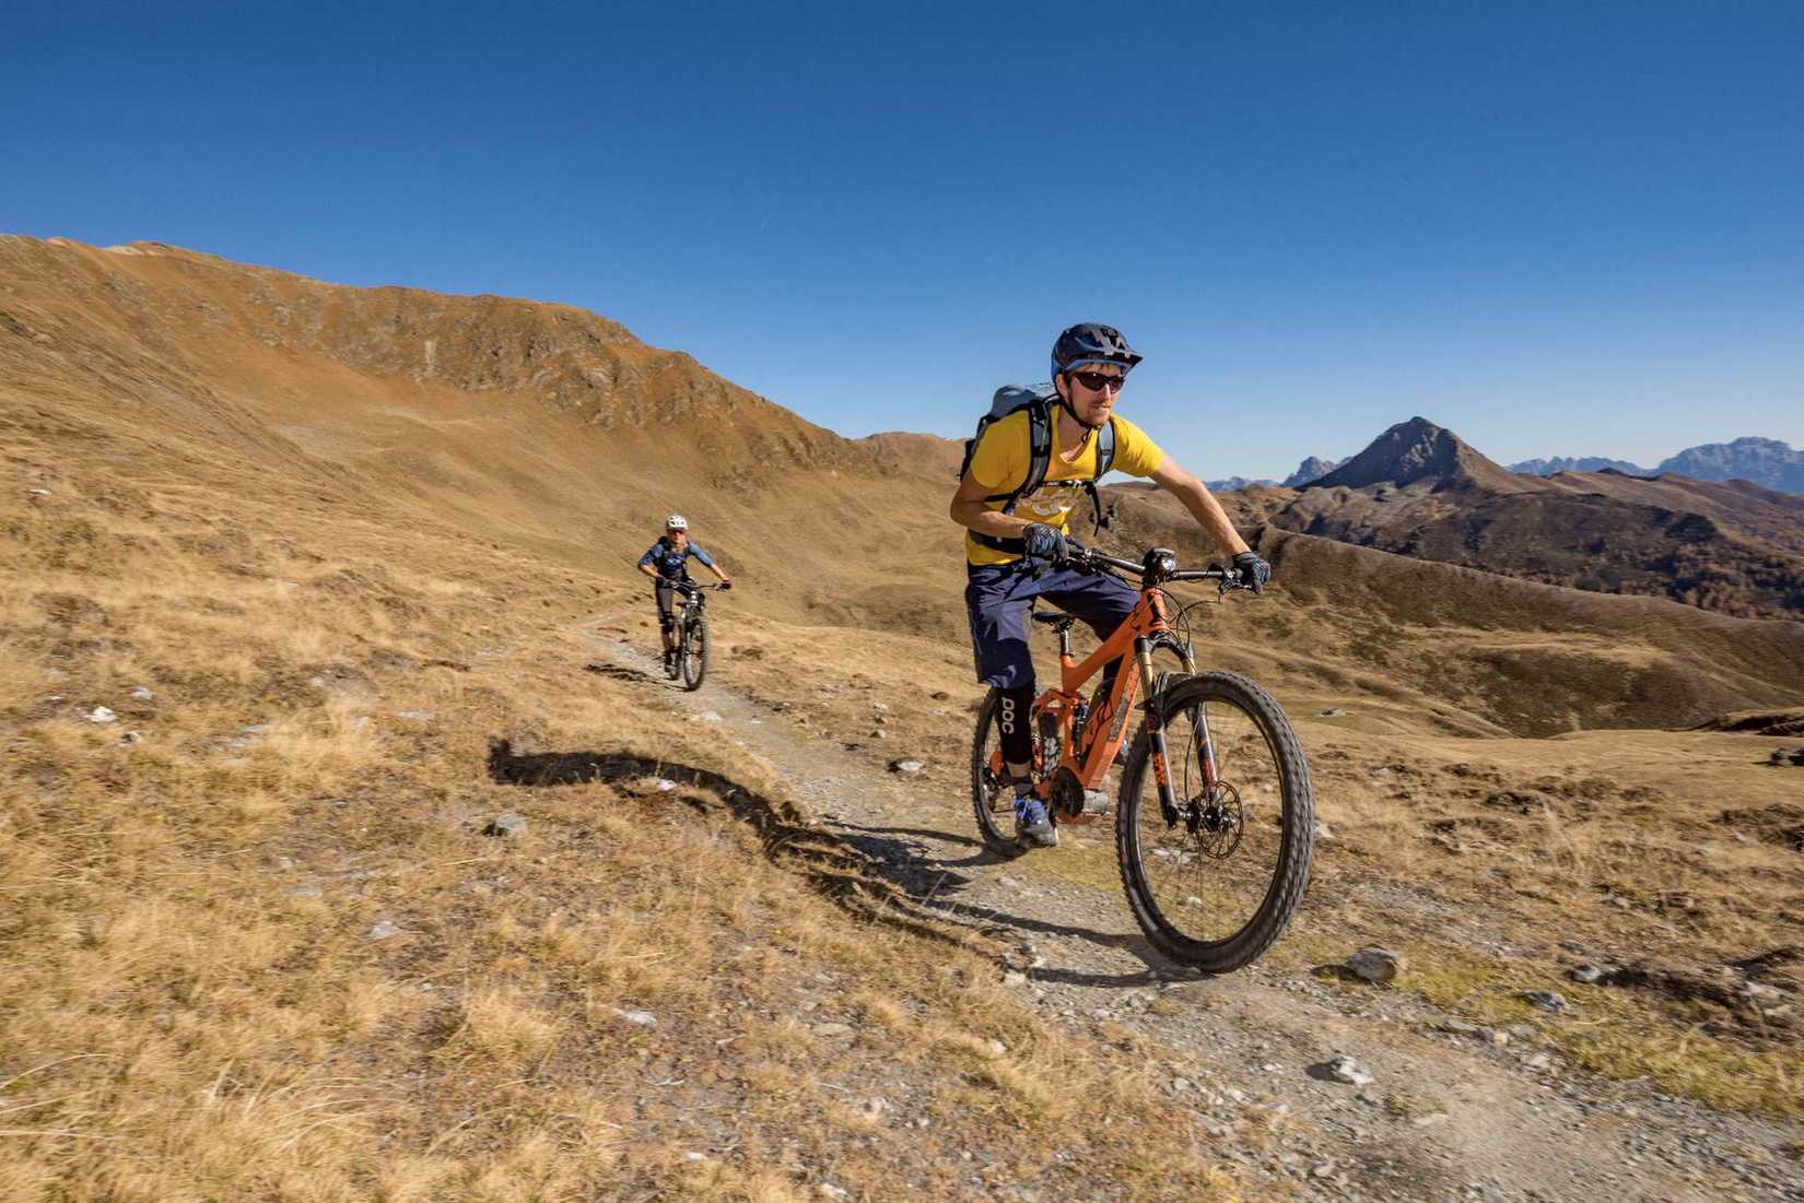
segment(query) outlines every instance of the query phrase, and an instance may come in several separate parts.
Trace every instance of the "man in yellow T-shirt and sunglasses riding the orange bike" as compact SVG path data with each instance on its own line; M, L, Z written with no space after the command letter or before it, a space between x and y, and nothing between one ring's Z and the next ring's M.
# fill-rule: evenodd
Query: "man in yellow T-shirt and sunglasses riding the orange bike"
M1028 611L1035 597L1045 597L1086 622L1097 638L1108 638L1140 599L1126 581L1077 572L1064 563L1064 536L1077 498L1072 485L1097 476L1097 431L1111 426L1113 471L1151 478L1178 498L1209 537L1234 554L1234 566L1254 588L1272 577L1272 565L1247 546L1203 482L1178 467L1138 426L1115 417L1115 400L1140 359L1113 326L1082 323L1063 332L1052 346L1057 406L1052 408L1043 483L1026 494L1012 492L1028 480L1034 456L1030 415L1023 409L983 429L953 496L953 521L967 528L965 608L978 680L1001 691L998 723L1003 763L1016 786L1016 833L1025 844L1041 848L1057 844L1059 833L1032 794ZM1023 514L1012 512L1016 509Z

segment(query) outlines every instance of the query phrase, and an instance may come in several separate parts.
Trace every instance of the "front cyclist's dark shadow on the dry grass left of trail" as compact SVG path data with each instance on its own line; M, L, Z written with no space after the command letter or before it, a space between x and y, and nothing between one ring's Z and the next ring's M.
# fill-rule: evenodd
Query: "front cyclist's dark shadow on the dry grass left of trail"
M790 803L781 803L709 768L637 756L633 752L514 752L507 739L489 741L489 777L502 785L545 788L662 777L711 794L732 815L758 831L774 864L799 873L815 891L855 918L898 927L925 940L969 947L969 938L945 931L945 916L924 911L922 898L898 886L870 849L814 826ZM676 799L705 810L696 799Z

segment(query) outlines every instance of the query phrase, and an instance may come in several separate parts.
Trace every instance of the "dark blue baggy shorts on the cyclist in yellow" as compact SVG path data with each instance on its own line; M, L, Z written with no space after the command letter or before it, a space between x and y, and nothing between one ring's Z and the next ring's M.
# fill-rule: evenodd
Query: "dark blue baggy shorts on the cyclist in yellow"
M1117 577L1050 568L1034 574L1012 565L971 565L965 610L971 613L971 646L978 657L978 684L1019 689L1034 684L1028 651L1028 610L1035 597L1086 622L1097 638L1108 638L1133 613L1140 592Z

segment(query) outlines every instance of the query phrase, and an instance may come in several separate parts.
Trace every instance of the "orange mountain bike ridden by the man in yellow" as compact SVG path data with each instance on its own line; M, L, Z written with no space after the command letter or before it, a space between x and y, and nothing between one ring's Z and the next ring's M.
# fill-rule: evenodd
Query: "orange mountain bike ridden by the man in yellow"
M1205 972L1241 969L1284 931L1310 880L1310 767L1272 694L1238 673L1194 671L1160 588L1216 581L1227 593L1243 588L1239 574L1180 570L1165 548L1138 565L1075 548L1070 563L1137 577L1140 601L1082 662L1072 655L1077 619L1034 615L1059 637L1059 685L1032 711L1034 792L1057 824L1100 819L1108 812L1100 786L1128 738L1128 714L1138 712L1115 808L1128 905L1165 956ZM1097 673L1102 682L1086 700L1084 684ZM1014 837L998 696L992 689L978 712L971 801L985 846L1016 857L1025 848Z

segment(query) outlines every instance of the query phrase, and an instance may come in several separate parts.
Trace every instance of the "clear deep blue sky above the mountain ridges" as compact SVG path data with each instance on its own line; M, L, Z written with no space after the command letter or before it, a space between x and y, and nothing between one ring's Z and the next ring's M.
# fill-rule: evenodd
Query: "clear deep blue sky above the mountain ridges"
M9 4L0 229L570 301L848 435L1804 444L1804 4Z

